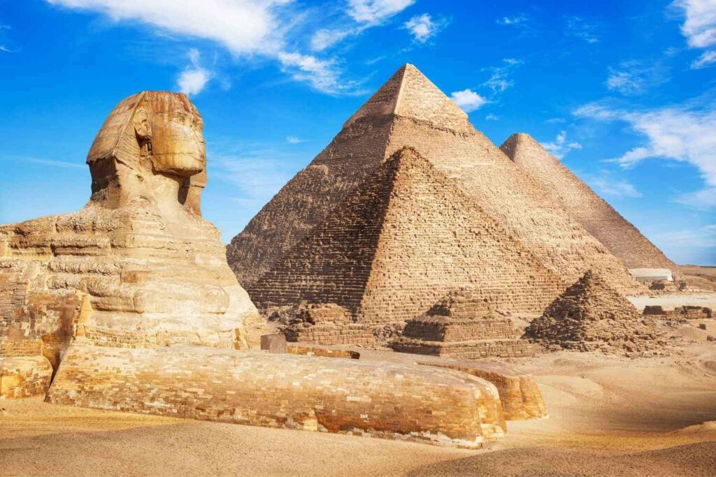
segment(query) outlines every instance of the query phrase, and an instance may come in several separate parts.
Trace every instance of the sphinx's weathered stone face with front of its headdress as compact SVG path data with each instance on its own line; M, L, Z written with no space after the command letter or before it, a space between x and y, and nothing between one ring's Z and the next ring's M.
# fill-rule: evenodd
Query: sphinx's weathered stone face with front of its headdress
M190 177L206 167L203 121L175 96L146 100L135 112L135 132L154 172Z

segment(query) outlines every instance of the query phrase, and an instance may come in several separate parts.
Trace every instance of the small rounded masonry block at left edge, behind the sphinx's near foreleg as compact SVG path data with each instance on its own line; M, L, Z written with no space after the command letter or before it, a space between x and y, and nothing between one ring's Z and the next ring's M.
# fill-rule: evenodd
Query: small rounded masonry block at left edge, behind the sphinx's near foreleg
M0 355L0 398L29 398L47 392L52 365L44 356Z

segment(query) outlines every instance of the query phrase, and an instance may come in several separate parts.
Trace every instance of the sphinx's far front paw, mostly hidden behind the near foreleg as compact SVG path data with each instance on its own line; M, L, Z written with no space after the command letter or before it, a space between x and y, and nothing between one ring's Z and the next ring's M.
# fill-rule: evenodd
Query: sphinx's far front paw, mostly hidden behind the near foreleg
M463 360L421 360L417 364L448 368L483 378L500 393L500 403L508 421L546 418L547 406L531 374L504 363Z

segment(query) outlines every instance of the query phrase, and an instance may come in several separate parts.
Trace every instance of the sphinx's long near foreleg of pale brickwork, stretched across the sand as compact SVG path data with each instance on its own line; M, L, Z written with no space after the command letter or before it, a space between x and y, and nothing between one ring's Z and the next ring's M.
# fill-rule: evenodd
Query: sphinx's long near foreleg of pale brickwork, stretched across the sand
M47 400L468 448L505 432L498 390L466 373L203 347L73 345Z

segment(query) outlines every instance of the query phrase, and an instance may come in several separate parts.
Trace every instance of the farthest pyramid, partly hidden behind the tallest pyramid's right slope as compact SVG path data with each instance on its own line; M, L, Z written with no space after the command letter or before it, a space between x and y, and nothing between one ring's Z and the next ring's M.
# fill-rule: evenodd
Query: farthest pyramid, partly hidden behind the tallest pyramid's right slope
M674 262L529 134L513 134L500 149L627 268L666 268L677 274Z

